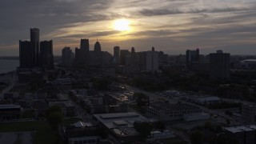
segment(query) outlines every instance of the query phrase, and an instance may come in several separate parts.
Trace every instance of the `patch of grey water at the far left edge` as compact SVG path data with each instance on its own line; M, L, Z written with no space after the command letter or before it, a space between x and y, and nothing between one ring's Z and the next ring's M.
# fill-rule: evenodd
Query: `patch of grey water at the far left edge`
M0 60L0 74L16 70L18 66L18 60Z

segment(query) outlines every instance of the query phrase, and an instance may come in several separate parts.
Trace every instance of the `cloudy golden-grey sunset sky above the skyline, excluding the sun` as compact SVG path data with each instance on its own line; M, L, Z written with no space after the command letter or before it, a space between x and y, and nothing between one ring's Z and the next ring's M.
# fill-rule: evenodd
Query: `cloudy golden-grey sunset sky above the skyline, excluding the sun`
M256 54L256 0L1 0L0 18L0 56L18 55L18 41L29 40L34 27L41 41L54 41L55 55L81 38L90 39L90 50L98 38L111 54L117 45ZM118 19L129 21L130 30L115 30Z

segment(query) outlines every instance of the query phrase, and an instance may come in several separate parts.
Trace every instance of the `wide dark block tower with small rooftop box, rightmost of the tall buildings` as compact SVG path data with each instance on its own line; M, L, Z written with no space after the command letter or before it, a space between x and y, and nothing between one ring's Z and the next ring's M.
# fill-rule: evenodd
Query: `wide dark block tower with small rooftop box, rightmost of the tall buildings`
M230 54L218 50L210 54L210 78L230 78Z

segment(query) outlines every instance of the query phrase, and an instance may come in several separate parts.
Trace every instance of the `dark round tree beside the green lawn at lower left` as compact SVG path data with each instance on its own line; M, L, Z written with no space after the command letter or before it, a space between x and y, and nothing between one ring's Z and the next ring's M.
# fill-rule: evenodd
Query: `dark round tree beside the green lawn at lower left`
M46 119L53 129L57 129L58 124L63 121L62 108L60 106L50 106L46 110Z

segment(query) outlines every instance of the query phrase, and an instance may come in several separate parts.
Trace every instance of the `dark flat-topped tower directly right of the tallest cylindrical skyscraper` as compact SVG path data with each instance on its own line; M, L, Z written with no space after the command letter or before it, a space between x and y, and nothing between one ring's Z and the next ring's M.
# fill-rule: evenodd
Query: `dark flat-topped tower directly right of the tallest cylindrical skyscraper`
M54 68L53 41L40 42L41 66L46 69Z

